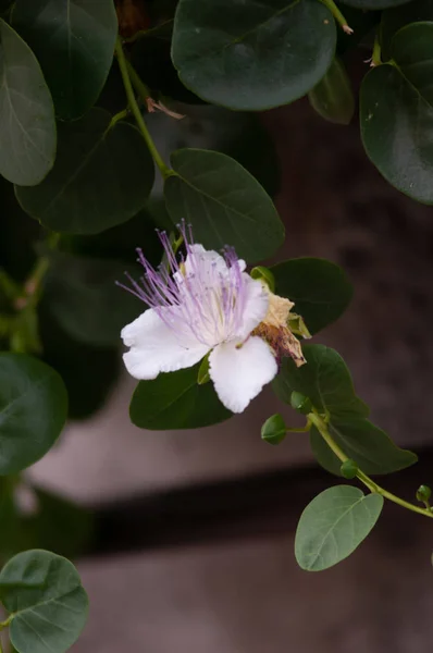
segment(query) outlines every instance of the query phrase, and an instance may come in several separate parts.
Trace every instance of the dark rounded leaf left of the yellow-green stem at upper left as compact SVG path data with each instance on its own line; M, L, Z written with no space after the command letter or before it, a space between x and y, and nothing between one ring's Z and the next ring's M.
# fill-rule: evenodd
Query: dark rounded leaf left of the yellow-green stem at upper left
M55 165L35 188L16 187L22 208L58 232L97 234L126 222L145 205L153 161L136 127L111 125L102 109L59 125Z

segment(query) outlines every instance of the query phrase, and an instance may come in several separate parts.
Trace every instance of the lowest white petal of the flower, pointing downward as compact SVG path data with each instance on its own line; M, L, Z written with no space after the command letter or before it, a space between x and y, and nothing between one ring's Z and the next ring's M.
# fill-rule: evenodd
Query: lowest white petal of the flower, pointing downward
M209 356L209 374L220 401L233 412L242 412L263 385L279 371L269 345L252 336L239 348L232 341L219 345Z

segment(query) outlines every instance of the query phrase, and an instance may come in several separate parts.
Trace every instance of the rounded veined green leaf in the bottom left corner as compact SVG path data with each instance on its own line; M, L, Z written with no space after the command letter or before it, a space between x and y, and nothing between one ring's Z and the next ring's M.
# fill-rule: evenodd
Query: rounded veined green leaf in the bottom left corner
M48 551L20 553L0 572L0 599L11 615L18 653L63 653L77 640L88 612L74 565Z

